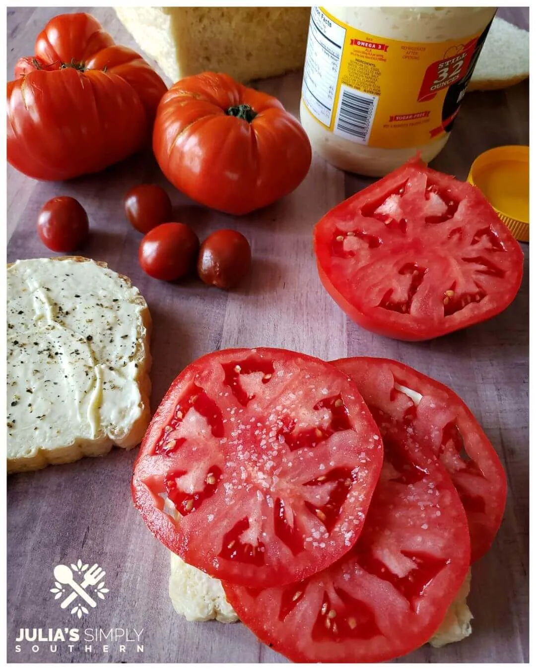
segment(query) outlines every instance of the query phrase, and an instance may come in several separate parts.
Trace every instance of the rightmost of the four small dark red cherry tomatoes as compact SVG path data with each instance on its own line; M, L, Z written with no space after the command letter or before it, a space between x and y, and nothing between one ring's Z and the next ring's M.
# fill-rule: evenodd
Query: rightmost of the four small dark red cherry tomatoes
M205 284L230 289L252 263L250 243L236 230L216 230L201 245L197 273Z

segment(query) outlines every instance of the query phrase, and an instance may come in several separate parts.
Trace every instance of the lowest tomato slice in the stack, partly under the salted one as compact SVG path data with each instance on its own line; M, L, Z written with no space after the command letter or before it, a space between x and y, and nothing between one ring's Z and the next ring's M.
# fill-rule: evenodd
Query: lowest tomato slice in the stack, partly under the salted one
M295 662L373 663L437 630L469 567L464 508L445 468L389 426L364 529L342 559L297 584L224 582L239 618Z

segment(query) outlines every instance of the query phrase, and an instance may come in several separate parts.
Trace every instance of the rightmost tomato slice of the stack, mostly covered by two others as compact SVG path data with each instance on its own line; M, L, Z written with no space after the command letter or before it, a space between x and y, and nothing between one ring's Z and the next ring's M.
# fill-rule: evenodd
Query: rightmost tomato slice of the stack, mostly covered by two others
M484 555L502 521L506 475L462 399L396 360L345 358L335 365L356 382L382 435L406 431L443 463L466 510L471 560Z

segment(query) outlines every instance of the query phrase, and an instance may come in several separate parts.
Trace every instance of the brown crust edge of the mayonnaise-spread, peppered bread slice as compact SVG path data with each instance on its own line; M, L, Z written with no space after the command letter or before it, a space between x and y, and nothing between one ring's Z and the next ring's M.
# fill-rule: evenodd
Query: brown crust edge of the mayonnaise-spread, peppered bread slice
M76 261L77 263L95 263L99 267L109 269L107 263L103 261L93 261L93 259L85 258L83 256L57 256L50 259L52 261ZM8 263L7 267L11 267L13 263ZM115 272L115 271L114 271ZM132 286L129 277L116 273L128 287ZM140 315L142 317L142 328L138 330L138 346L133 360L138 363L136 368L135 381L140 389L142 412L140 416L131 425L129 431L124 435L102 435L95 440L75 440L72 444L66 445L62 448L40 449L32 450L28 456L18 458L7 458L7 474L14 472L28 472L30 470L41 470L48 465L60 465L64 463L72 463L83 456L104 456L108 454L113 446L121 447L123 449L133 449L142 441L144 433L149 425L151 409L150 409L150 393L151 393L151 379L149 376L152 357L150 353L150 336L152 331L152 319L147 303L138 294L136 302L141 306Z

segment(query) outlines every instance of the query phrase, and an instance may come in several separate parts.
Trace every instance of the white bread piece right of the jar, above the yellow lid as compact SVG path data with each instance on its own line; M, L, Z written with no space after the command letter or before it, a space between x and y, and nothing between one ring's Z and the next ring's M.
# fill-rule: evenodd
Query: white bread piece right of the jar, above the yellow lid
M529 33L504 19L493 19L468 90L513 86L529 76Z

